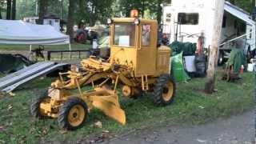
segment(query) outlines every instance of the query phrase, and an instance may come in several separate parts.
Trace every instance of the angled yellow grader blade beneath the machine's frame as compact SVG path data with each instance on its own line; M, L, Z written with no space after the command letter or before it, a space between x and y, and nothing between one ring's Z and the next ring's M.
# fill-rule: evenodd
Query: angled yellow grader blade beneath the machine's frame
M111 99L111 98L110 98ZM113 99L113 98L112 98ZM113 118L117 122L120 122L122 125L126 124L126 114L125 111L120 108L119 105L116 105L118 102L113 102L112 100L107 100L101 96L93 97L93 106L102 110L104 114Z

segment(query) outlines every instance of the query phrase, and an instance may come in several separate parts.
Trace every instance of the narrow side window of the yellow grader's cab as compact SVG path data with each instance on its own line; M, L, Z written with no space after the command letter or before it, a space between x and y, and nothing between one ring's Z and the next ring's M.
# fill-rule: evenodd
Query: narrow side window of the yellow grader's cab
M142 46L150 46L150 25L142 25Z

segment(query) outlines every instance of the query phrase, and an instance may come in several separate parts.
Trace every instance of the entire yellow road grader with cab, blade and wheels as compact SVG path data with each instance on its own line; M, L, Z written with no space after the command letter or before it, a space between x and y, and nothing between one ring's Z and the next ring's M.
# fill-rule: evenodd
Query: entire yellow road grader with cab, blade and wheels
M175 83L170 76L170 48L157 46L158 22L142 18L112 18L110 26L110 58L90 56L81 69L71 66L60 73L46 93L35 98L30 114L35 118L58 118L66 130L82 126L93 108L102 110L114 120L126 124L117 87L122 95L137 98L152 92L155 106L173 102ZM96 81L100 80L96 84ZM82 86L93 86L82 90ZM76 94L71 90L78 90Z

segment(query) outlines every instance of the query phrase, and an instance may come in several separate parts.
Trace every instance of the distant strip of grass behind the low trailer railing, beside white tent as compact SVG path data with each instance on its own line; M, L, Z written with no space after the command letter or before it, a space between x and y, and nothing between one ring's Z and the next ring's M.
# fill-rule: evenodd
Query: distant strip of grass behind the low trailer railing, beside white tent
M69 50L68 45L56 45L56 46L44 46L45 50ZM38 48L38 45L33 45L32 49ZM72 43L72 50L88 50L90 48L89 44L81 44L81 43ZM29 45L0 45L1 50L21 50L28 51L30 50Z

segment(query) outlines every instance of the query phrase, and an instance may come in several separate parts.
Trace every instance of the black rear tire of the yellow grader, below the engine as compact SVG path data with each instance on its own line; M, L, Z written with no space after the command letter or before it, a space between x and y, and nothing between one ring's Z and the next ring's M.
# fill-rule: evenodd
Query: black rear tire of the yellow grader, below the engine
M167 83L170 82L172 84L172 93L170 92L171 96L170 98L166 99L163 97L162 94L168 94L169 90L166 91L166 85ZM169 83L169 84L170 84ZM155 86L154 86L154 105L155 106L167 106L170 105L173 101L174 101L174 96L175 96L175 90L176 90L176 86L175 86L175 82L174 82L174 78L172 78L170 76L170 74L162 74L156 81Z

